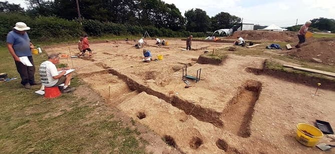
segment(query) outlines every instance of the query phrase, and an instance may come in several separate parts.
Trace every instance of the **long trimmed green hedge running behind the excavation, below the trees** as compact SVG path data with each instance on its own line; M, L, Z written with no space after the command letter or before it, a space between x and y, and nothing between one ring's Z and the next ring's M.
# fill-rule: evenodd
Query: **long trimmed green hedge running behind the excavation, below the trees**
M78 38L83 33L90 36L114 35L143 35L148 31L151 37L194 37L206 36L203 32L173 31L154 26L124 25L113 22L101 22L98 20L83 20L82 24L75 20L67 20L59 17L40 16L31 18L19 13L0 13L0 41L6 41L6 36L13 29L16 22L25 22L31 27L29 36L33 40L46 41L53 38Z

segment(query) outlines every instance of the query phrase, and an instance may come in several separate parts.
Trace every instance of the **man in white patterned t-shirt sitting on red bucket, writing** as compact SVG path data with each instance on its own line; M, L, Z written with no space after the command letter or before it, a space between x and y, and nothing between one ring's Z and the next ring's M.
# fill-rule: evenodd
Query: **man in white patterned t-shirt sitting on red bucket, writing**
M48 55L48 60L41 63L40 66L40 76L42 84L45 87L54 87L64 83L63 93L72 92L76 88L69 87L72 73L64 75L66 70L69 68L56 68L56 63L59 62L59 56L57 53ZM58 73L58 71L63 70Z

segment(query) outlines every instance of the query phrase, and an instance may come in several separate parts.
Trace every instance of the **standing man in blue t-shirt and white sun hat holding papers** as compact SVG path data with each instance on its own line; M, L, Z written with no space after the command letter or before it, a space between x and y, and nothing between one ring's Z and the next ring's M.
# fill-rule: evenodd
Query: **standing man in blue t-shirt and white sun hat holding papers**
M34 49L34 45L30 41L26 32L26 30L29 29L30 27L27 26L26 23L17 22L13 30L7 34L8 50L12 54L17 70L20 73L22 79L21 84L27 89L30 89L31 85L41 84L40 82L35 82L34 78L35 65L32 56L32 49Z

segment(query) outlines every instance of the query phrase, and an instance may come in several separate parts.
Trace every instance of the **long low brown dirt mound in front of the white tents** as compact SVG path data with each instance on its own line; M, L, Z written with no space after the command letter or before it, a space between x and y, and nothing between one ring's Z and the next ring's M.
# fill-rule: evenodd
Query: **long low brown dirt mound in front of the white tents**
M294 42L298 38L294 31L264 31L264 30L242 30L235 31L233 35L228 36L228 39L236 39L237 36L241 36L243 39L248 40L276 40Z

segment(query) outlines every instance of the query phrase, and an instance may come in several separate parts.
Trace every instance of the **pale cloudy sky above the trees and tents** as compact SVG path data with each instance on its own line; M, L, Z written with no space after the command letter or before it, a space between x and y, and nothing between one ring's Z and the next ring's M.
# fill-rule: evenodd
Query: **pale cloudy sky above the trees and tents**
M1 0L5 1L5 0ZM25 0L8 0L27 8ZM335 0L162 0L174 3L182 15L191 8L201 8L209 16L224 11L243 18L245 23L279 26L294 25L306 20L335 18ZM224 27L225 28L225 27Z

